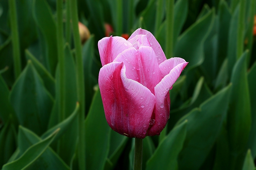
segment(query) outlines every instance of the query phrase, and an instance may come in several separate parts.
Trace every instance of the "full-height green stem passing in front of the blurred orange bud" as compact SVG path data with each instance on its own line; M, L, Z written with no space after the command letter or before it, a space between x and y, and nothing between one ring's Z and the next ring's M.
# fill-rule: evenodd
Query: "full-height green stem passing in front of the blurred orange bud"
M84 139L84 75L83 75L83 59L82 59L82 45L78 29L78 11L76 0L70 1L70 12L72 20L72 28L74 32L74 43L76 52L76 84L79 109L79 141L78 141L78 163L79 169L85 169L85 139Z

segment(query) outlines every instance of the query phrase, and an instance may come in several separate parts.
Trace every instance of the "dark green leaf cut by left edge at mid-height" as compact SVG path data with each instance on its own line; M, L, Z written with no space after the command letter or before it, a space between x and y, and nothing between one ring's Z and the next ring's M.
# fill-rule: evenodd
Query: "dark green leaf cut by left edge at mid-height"
M14 116L14 110L11 106L11 103L8 100L8 96L10 94L10 91L7 87L7 84L5 83L4 79L0 75L0 119L6 123L9 119L10 114Z

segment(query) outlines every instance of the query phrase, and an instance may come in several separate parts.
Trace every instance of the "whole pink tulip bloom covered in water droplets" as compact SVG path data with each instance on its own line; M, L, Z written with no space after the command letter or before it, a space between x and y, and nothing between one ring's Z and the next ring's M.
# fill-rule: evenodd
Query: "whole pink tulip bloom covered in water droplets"
M153 34L141 28L128 40L104 37L98 48L99 89L109 126L131 138L159 135L170 115L169 90L188 62L167 60Z

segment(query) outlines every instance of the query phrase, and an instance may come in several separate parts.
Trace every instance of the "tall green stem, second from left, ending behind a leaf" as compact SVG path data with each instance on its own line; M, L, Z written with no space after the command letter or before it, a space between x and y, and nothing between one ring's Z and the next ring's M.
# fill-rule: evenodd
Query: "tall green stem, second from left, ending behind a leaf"
M57 6L57 50L59 60L59 122L65 119L65 63L64 63L64 41L63 41L63 0L56 1Z

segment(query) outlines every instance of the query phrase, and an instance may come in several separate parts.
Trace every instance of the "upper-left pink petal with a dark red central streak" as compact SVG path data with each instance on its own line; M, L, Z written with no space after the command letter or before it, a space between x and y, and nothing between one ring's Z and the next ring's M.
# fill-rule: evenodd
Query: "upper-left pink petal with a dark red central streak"
M119 36L104 37L99 40L98 48L102 66L113 62L119 53L130 47L132 47L132 44Z

